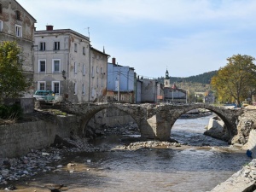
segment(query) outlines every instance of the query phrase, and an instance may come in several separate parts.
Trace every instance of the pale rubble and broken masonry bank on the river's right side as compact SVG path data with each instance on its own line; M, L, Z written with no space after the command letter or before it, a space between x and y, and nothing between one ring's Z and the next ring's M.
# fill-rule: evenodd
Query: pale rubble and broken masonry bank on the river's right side
M206 131L206 135L223 139L225 135L224 123L221 119L215 119L215 126ZM232 138L234 146L241 146L242 149L249 149L253 158L256 157L256 110L246 110L237 121L237 135ZM214 125L214 124L212 124ZM247 166L236 172L224 183L220 183L211 192L253 192L256 190L256 159L253 159Z

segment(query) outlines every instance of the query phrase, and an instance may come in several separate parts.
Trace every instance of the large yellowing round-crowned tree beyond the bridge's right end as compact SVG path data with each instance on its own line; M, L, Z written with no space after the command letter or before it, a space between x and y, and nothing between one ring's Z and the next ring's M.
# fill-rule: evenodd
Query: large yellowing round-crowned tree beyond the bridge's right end
M256 86L255 58L250 55L233 55L227 59L225 67L221 67L213 76L212 88L218 92L218 100L236 102L237 105L247 98Z

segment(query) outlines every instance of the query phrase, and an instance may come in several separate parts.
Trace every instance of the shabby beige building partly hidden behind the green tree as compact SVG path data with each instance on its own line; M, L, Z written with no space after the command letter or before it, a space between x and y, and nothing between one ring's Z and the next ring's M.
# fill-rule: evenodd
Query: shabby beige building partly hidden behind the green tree
M16 41L23 50L23 72L33 79L33 32L36 20L15 0L0 0L0 43ZM33 87L25 97L32 97Z

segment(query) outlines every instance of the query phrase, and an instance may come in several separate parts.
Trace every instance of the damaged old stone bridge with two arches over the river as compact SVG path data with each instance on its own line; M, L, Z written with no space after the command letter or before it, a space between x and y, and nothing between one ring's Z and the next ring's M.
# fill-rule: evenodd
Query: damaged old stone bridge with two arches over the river
M106 108L116 108L131 115L136 121L143 139L159 139L168 141L171 137L172 125L183 114L196 108L206 108L216 113L226 125L229 138L237 134L236 123L241 109L214 107L205 103L186 105L152 105L152 104L121 104L121 103L83 103L72 104L64 102L61 109L80 116L79 135L83 136L86 125L99 111Z

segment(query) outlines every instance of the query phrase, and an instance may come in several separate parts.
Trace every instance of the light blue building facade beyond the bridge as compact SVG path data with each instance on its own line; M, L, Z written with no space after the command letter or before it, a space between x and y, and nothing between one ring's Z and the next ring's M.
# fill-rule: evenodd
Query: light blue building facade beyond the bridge
M135 80L134 68L117 65L113 58L112 63L108 63L108 100L135 103Z

